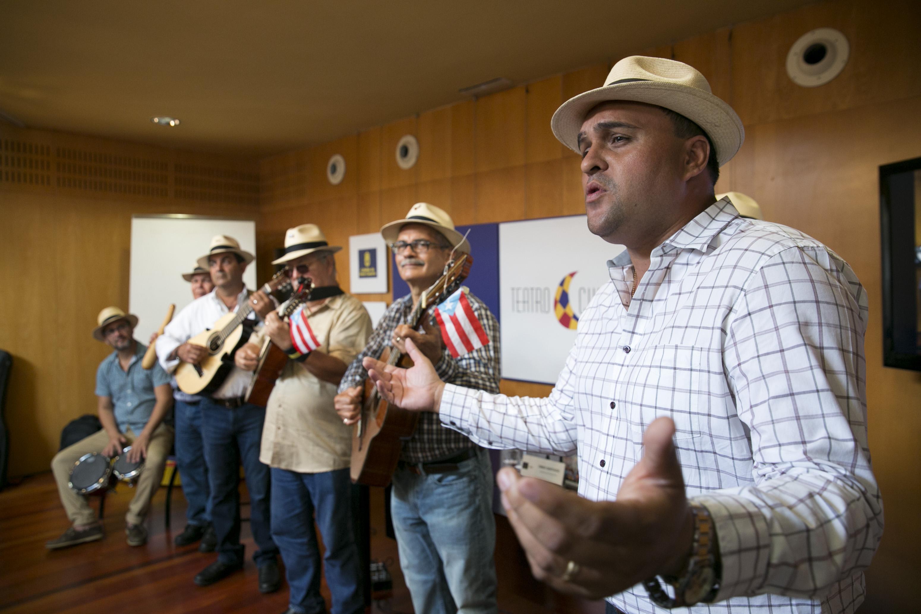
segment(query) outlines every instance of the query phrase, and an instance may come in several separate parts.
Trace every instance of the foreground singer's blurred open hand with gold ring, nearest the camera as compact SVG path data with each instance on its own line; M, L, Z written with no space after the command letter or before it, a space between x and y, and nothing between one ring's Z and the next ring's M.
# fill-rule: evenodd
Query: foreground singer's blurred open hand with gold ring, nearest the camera
M649 425L645 454L616 501L592 502L549 482L521 478L514 469L499 471L502 504L537 579L598 599L657 573L682 571L694 522L671 442L674 432L668 418Z

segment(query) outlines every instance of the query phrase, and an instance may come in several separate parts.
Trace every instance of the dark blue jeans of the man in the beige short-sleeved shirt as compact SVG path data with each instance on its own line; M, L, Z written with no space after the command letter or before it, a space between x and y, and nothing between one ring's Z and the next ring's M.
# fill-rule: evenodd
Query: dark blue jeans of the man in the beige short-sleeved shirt
M272 538L281 550L290 588L288 607L322 614L320 548L314 519L323 537L326 584L332 614L365 611L358 547L352 533L352 483L348 469L297 473L272 468Z

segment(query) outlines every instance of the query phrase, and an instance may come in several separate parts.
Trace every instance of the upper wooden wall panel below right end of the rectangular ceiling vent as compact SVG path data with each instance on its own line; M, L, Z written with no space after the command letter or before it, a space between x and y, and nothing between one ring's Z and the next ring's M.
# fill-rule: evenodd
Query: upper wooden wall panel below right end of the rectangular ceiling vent
M477 98L477 172L524 164L526 97L520 86Z

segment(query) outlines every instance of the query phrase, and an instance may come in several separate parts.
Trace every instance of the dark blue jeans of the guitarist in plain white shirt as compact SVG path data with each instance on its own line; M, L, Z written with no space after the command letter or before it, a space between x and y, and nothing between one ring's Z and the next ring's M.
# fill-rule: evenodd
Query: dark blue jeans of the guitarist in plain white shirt
M246 473L250 493L250 528L259 550L253 554L257 566L274 560L278 548L272 540L269 514L269 467L259 460L265 408L241 405L235 410L210 399L199 402L202 409L204 458L211 487L211 522L217 536L217 559L242 564L239 543L239 464Z

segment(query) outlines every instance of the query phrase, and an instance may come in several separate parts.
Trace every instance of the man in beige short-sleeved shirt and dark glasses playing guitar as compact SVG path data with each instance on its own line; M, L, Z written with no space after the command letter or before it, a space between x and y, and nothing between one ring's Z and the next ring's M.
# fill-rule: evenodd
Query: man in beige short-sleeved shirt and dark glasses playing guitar
M309 347L314 349L299 353L291 326L275 311L266 316L262 330L291 359L269 396L260 455L272 468L272 537L285 561L291 591L286 614L326 611L314 520L326 549L332 611L356 614L365 609L351 514L351 429L336 415L332 399L346 365L365 347L372 327L361 301L336 283L333 254L340 249L329 245L316 225L287 230L286 253L273 264L286 265L295 288L304 278L313 283L312 300L291 318L297 320L295 329L309 327L308 336L315 340ZM254 334L239 349L239 368L256 367L261 337Z

